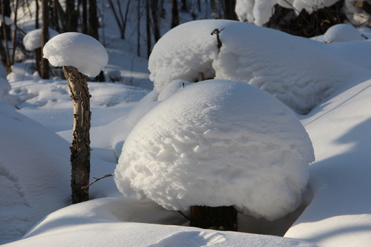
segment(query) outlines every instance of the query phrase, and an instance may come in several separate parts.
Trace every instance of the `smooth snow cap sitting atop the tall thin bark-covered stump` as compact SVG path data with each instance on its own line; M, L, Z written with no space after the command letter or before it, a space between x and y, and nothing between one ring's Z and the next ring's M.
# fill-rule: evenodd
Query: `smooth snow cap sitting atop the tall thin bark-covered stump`
M106 49L98 40L76 32L55 36L43 52L53 66L72 66L90 77L97 76L108 62Z

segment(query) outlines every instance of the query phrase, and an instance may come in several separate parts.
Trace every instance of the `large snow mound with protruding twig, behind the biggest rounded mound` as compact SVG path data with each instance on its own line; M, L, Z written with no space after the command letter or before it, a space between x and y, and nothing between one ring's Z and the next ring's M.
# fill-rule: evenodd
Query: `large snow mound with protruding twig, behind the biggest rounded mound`
M222 47L218 52L218 28ZM274 38L271 38L274 37ZM306 114L359 68L329 54L324 43L238 21L192 21L170 30L156 43L148 69L155 90L173 80L205 78L247 82ZM324 69L326 68L326 70ZM314 73L315 72L315 73Z

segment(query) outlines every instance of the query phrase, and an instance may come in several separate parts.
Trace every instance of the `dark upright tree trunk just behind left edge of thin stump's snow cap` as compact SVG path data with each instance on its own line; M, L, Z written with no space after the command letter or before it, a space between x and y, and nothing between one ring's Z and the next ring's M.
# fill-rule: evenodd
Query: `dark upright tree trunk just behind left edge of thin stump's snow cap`
M41 78L49 79L49 61L43 58L43 47L49 40L49 5L48 0L42 1L43 22L41 24Z

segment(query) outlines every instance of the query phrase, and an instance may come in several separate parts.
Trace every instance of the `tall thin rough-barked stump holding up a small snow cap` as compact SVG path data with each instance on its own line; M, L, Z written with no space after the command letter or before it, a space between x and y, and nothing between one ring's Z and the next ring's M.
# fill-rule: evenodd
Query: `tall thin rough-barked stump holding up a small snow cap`
M72 203L89 200L90 176L90 94L87 78L75 67L63 67L71 98L74 102L74 129L71 147L71 189Z

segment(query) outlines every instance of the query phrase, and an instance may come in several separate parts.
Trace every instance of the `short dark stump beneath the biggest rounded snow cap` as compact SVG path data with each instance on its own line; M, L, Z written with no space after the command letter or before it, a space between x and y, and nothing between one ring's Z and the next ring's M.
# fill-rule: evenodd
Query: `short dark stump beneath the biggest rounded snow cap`
M237 231L237 211L234 207L190 207L190 226L218 231Z

